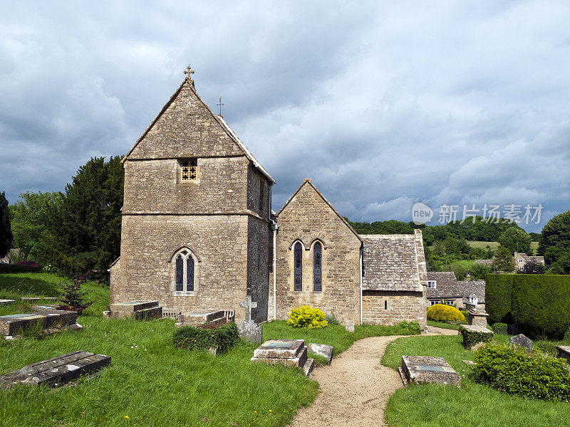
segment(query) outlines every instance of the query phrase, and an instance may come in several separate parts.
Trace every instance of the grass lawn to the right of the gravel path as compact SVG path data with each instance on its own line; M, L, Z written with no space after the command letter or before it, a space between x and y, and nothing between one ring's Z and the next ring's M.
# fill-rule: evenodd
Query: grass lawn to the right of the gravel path
M506 342L507 335L497 336ZM570 404L534 401L476 384L462 360L473 352L463 349L459 335L400 338L388 345L382 364L396 368L403 355L444 357L462 376L461 389L453 386L409 386L388 401L390 427L550 427L570 425Z

